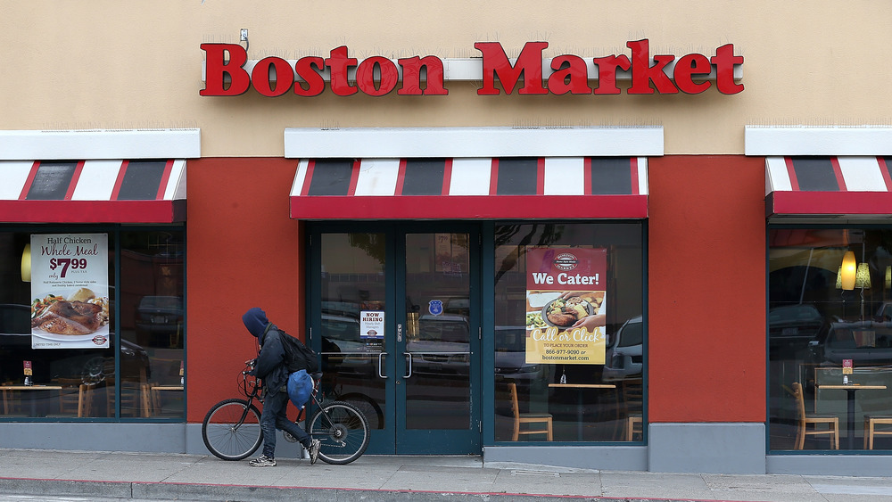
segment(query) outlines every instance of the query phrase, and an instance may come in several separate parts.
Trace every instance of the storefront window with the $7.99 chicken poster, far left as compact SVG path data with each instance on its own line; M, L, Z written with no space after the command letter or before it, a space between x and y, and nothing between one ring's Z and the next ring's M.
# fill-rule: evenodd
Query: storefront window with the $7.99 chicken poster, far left
M182 419L184 251L180 227L0 231L0 416Z

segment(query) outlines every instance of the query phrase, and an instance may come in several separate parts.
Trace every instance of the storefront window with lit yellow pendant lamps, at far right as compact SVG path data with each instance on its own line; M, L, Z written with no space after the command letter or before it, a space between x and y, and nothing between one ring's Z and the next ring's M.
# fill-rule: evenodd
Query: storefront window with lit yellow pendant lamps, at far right
M769 231L772 450L892 448L890 270L888 229Z

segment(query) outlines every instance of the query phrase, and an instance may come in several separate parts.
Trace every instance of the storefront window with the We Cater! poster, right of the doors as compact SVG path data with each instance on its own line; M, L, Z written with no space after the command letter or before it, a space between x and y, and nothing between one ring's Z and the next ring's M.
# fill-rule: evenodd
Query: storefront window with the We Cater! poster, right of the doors
M643 231L496 226L495 440L642 440Z

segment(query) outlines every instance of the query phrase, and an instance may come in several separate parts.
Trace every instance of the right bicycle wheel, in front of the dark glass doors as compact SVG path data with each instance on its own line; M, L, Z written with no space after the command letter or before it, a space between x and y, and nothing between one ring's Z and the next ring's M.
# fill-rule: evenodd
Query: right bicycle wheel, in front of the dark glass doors
M326 403L310 419L308 432L321 442L319 458L328 464L350 464L368 448L368 420L343 401Z

